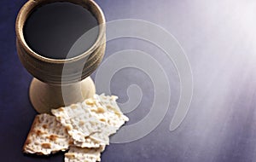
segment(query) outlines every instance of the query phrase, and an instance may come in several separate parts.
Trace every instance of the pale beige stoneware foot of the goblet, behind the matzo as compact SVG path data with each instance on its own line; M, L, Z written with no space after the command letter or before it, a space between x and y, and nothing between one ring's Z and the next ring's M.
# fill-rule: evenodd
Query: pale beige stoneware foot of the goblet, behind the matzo
M38 113L50 113L53 108L84 101L95 94L95 84L90 77L84 78L79 83L62 86L45 84L33 78L29 90L30 101Z

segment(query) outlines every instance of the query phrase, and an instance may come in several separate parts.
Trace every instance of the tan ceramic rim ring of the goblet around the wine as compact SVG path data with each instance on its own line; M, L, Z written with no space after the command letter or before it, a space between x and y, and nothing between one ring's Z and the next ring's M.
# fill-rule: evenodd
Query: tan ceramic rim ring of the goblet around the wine
M48 2L46 0L28 0L23 7L20 9L20 12L17 16L16 22L15 22L15 32L16 32L16 38L18 41L20 41L20 45L26 50L26 53L29 55L32 55L36 59L44 62L49 62L49 63L56 63L56 64L63 64L63 63L71 63L74 61L79 61L80 59L83 59L84 57L90 55L93 51L95 51L96 48L98 48L99 45L102 43L102 38L105 37L105 32L106 32L106 20L105 16L102 12L102 9L92 0L82 0L82 1L73 1L73 0L51 0L49 3L55 3L55 2L69 2L69 3L76 3L78 5L81 5L81 3L86 2L90 3L94 9L96 9L96 12L99 14L91 13L94 14L96 17L96 20L98 21L98 26L99 26L99 33L98 37L96 38L96 42L93 43L93 45L90 47L90 49L86 50L83 54L77 55L75 57L67 58L67 59L53 59L49 57L44 57L43 55L39 55L37 52L33 51L28 44L26 43L26 40L24 38L23 34L23 26L26 22L27 17L29 14L31 14L33 9L38 8L41 4L47 4ZM81 5L84 7L83 5Z

